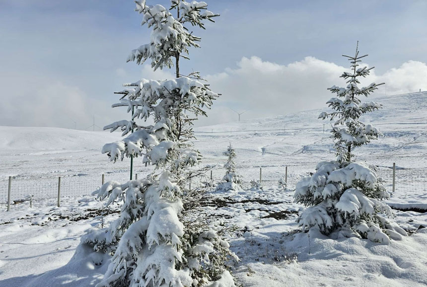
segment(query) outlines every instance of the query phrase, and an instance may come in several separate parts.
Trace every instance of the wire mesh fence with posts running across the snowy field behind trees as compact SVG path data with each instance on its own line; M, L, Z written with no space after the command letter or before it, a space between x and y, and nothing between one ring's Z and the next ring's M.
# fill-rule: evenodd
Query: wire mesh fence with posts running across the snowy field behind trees
M269 167L271 168L271 167ZM277 170L278 168L276 168ZM286 182L289 188L303 177L308 176L307 172L296 172L288 170L285 166L280 172L265 172L262 167L253 168L250 172L239 172L242 188L248 190L254 182L259 182L261 186L278 186L279 181ZM107 173L108 174L108 173ZM225 174L223 168L214 167L202 177L193 178L188 182L188 188L200 188L203 186L215 186ZM421 197L427 198L427 174L425 169L404 169L393 166L380 166L378 176L384 180L384 185L393 194L400 197ZM117 177L117 176L115 176ZM32 205L33 201L43 199L57 199L58 207L61 205L62 198L79 198L90 195L99 188L105 181L117 180L127 182L128 176L123 178L105 178L104 174L91 177L48 177L34 179L13 179L0 181L0 204L7 206L7 211L11 209L13 203L28 201ZM135 174L138 179L138 174ZM1 208L2 209L2 208Z

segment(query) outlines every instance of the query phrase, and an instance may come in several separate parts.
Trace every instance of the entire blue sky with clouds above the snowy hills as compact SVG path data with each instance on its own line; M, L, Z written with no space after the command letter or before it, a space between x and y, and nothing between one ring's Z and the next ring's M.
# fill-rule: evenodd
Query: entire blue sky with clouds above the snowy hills
M356 42L375 97L427 90L425 0L206 0L219 13L181 72L221 93L197 126L325 107ZM167 0L148 4L169 7ZM0 125L90 130L128 119L111 105L122 84L172 78L126 63L149 42L133 0L0 0ZM98 128L97 128L98 129Z

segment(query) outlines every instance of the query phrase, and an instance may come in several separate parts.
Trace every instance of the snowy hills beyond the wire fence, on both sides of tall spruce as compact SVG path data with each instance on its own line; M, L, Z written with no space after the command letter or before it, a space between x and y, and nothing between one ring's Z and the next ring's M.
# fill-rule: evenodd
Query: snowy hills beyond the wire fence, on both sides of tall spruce
M372 100L381 103L383 109L364 120L378 127L384 138L356 149L356 153L363 154L359 159L383 166L396 162L402 168L427 166L427 92ZM236 162L243 169L243 176L256 177L260 167L266 176L283 174L285 166L291 174L312 171L319 160L333 157L329 123L317 119L321 111L323 109L195 128L194 143L204 155L202 164L218 165L217 176L222 176L220 165L225 160L222 152L229 143L236 149ZM8 175L85 173L95 176L118 172L117 179L124 179L129 159L113 164L100 153L103 144L119 139L120 133L0 127L0 174L5 179ZM413 156L417 160L408 160ZM143 167L139 160L135 164L140 172L148 172L149 168Z

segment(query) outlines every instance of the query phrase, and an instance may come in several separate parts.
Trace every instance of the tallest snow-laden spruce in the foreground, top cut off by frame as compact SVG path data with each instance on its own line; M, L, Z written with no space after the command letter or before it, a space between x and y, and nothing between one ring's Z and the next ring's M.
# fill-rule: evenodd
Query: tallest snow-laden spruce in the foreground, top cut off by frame
M121 129L124 140L105 144L103 153L112 161L125 156L142 156L154 171L145 179L121 185L107 182L94 194L108 198L107 205L123 201L120 217L106 230L83 238L95 250L114 253L104 279L97 287L234 287L224 262L233 254L214 227L190 224L183 218L182 196L185 169L197 164L201 154L194 149L192 122L206 115L218 96L202 83L198 73L181 76L179 58L187 58L189 47L199 47L199 37L184 25L204 28L203 21L218 16L205 2L171 0L170 10L162 5L136 1L143 15L142 25L151 28L150 43L132 51L128 61L151 60L154 70L176 66L176 78L141 79L124 84L121 106L132 111L131 121L119 121L104 129ZM173 59L175 61L173 61ZM175 63L174 63L175 62ZM140 125L137 120L153 125Z

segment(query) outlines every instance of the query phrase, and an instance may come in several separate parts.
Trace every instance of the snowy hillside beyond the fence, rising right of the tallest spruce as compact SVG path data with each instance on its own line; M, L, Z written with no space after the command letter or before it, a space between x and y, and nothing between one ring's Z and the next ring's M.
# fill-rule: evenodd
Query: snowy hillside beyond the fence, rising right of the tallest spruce
M371 113L364 121L375 125L384 137L357 148L356 154L367 152L359 159L387 166L392 162L407 168L427 166L427 92L372 100L382 104L383 109ZM317 119L321 111L323 109L196 128L195 144L207 162L215 161L231 143L237 158L240 156L240 161L237 160L245 168L277 170L287 165L299 171L312 170L318 160L333 157L328 133L330 123ZM407 161L408 156L414 154L419 160Z

